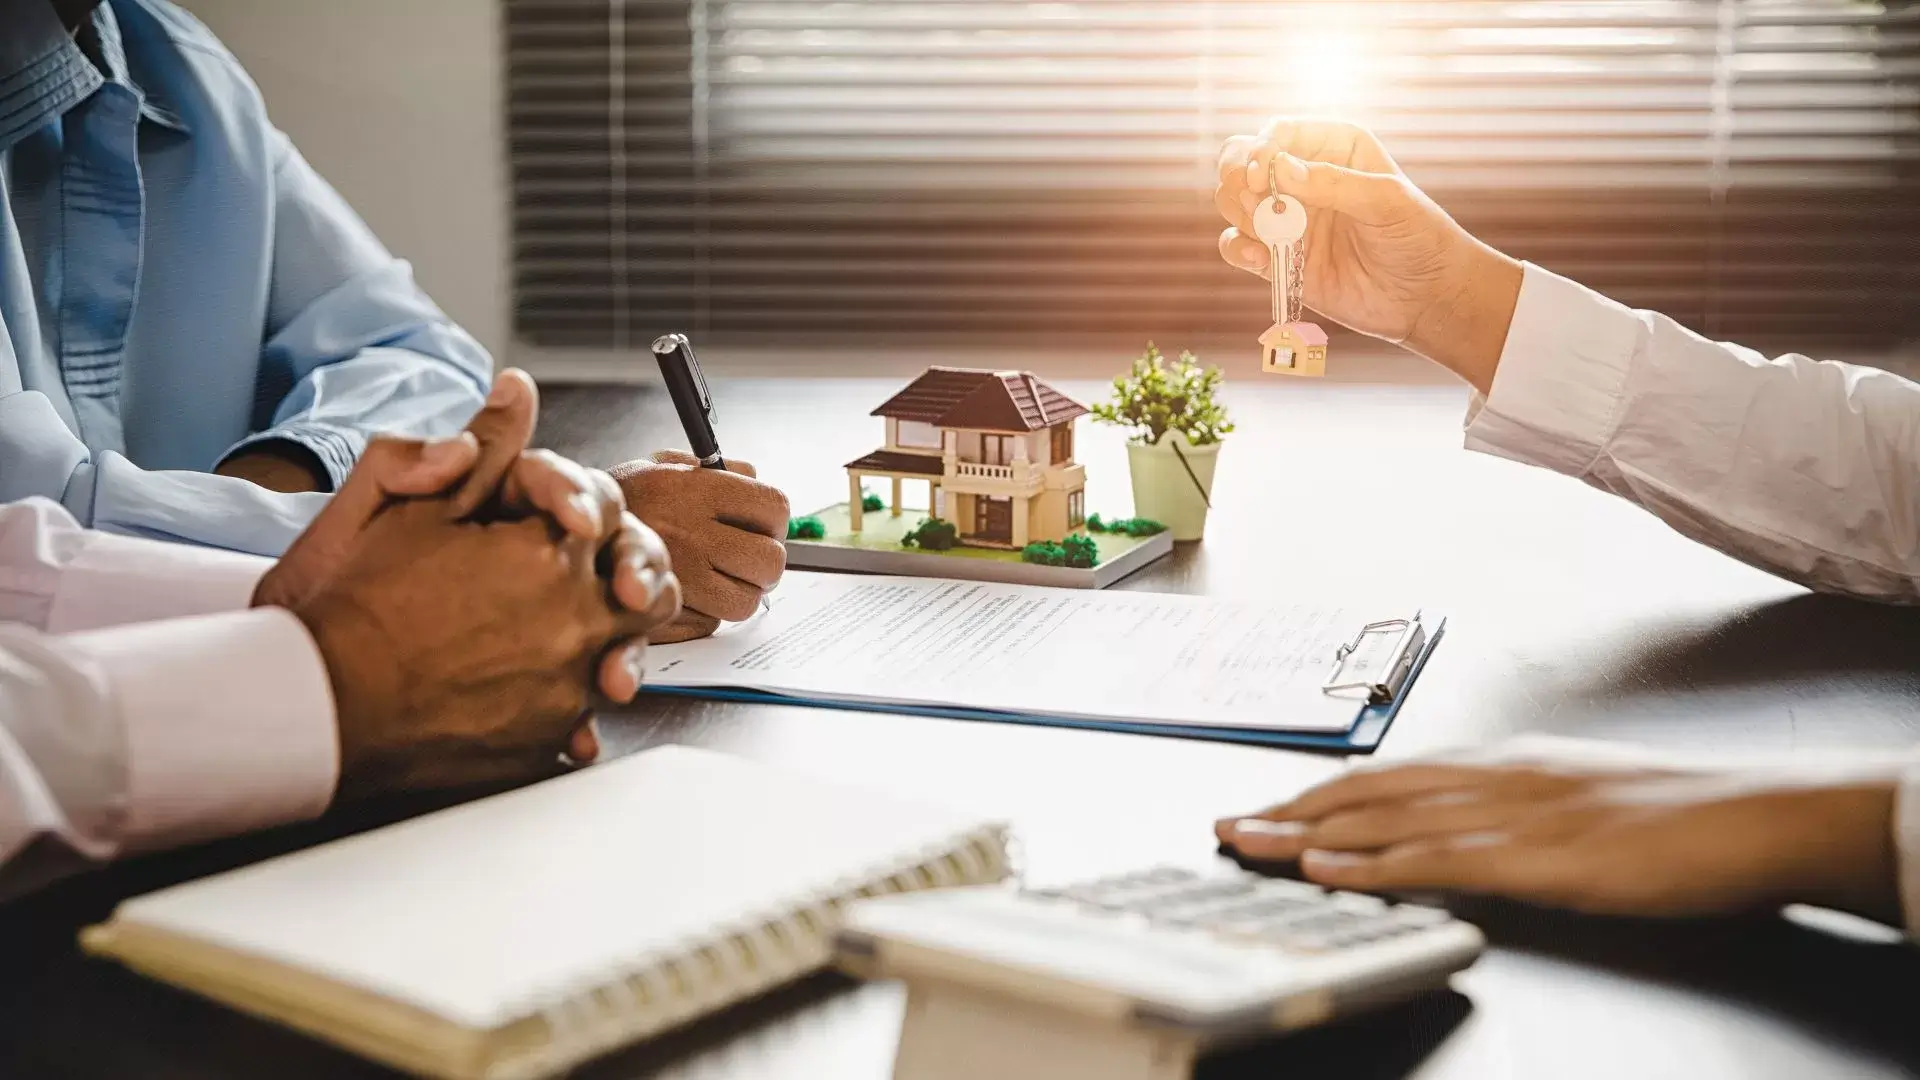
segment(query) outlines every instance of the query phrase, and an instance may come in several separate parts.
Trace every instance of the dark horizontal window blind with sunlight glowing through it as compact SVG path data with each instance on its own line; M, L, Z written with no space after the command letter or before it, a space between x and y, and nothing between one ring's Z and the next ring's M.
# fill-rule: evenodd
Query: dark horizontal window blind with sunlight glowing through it
M1912 0L507 0L540 346L1258 334L1225 136L1377 129L1492 244L1747 340L1920 313Z

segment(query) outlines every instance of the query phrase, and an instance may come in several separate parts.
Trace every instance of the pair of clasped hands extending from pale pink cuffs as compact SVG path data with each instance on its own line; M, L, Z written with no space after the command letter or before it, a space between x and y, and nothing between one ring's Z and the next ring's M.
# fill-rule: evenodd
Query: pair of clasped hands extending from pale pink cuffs
M538 394L501 373L451 440L374 440L261 578L326 665L340 790L534 778L591 761L595 688L630 701L680 613L666 546L605 473L528 452Z

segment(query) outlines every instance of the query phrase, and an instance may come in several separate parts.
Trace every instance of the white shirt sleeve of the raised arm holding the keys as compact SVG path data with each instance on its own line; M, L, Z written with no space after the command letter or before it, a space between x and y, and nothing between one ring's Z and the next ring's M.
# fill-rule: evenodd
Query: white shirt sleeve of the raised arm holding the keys
M1920 384L1707 340L1528 265L1467 446L1807 584L1920 601Z

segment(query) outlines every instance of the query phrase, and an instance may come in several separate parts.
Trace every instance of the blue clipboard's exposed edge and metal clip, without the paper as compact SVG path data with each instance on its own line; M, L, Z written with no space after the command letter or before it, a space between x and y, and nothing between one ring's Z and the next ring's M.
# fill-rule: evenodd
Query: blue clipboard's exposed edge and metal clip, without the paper
M1440 638L1444 634L1446 617L1427 611L1413 611L1405 617L1382 619L1357 626L1354 636L1336 648L1332 657L1329 657L1327 680L1321 684L1321 694L1346 696L1354 700L1354 726L1340 734L1133 721L1087 721L1077 717L1050 717L996 709L804 698L726 686L647 686L643 694L657 694L662 698L695 698L703 701L803 705L851 713L891 713L904 717L933 717L943 721L1037 724L1158 738L1192 738L1202 742L1231 742L1327 753L1373 753L1379 749L1380 740L1386 738L1386 728L1390 728L1394 719L1400 715L1400 709L1405 705L1407 696L1419 682L1421 673L1427 669L1427 661L1440 646Z

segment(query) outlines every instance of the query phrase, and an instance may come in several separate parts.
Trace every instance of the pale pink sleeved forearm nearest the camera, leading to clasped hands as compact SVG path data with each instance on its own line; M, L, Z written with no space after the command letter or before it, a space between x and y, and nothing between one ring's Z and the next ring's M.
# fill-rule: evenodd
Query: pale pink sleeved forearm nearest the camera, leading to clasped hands
M280 609L73 636L0 625L0 897L321 813L338 767L328 694Z

